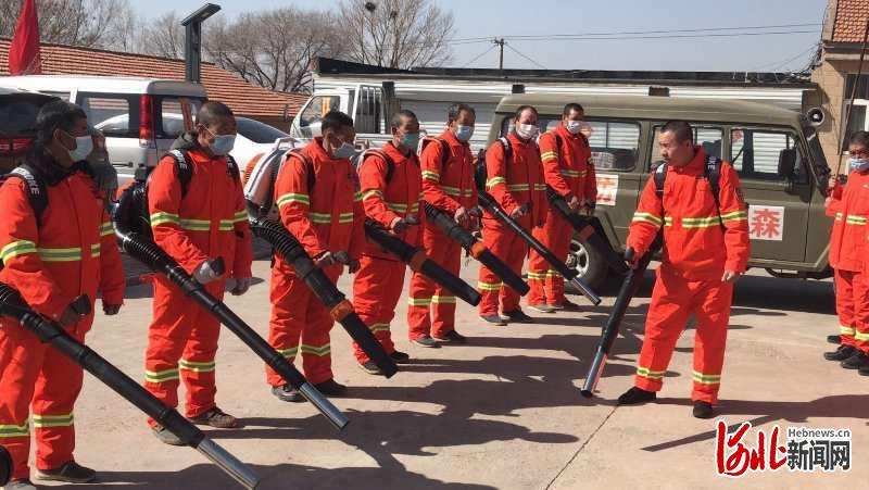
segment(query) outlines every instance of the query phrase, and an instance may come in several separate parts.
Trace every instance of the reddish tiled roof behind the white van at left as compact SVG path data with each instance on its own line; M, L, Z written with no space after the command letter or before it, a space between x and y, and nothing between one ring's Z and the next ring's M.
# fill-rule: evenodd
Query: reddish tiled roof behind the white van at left
M9 39L0 39L0 75L9 75ZM184 60L42 43L43 75L138 76L185 79ZM284 108L294 115L307 100L304 93L274 92L250 84L213 63L202 64L202 85L209 98L245 116L281 117Z

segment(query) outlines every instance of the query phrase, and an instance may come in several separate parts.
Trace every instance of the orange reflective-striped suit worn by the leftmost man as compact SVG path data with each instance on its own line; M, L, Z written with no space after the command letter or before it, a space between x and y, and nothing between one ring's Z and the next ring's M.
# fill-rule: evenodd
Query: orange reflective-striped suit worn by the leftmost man
M24 181L0 188L0 259L3 281L41 315L60 319L79 294L122 304L124 269L114 229L91 178L81 172L48 185L48 208L39 224ZM88 315L66 331L84 341ZM0 444L13 461L13 479L29 477L29 410L36 428L36 465L56 469L73 460L73 407L83 370L16 322L0 318Z

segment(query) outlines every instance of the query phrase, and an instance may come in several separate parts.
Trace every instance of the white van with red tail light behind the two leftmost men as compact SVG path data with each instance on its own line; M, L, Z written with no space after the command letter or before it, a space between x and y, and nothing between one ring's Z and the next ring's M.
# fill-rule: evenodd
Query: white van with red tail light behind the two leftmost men
M138 77L28 75L0 77L0 87L37 91L78 104L105 135L118 180L153 166L205 101L200 84ZM184 125L177 124L181 117Z

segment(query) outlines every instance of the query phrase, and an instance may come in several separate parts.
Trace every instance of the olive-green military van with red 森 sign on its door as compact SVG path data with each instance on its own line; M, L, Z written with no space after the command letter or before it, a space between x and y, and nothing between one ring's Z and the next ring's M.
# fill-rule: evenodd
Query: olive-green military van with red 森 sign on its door
M585 109L597 174L596 215L610 243L624 250L639 194L660 160L657 135L667 121L685 121L695 143L733 163L750 204L751 267L776 277L830 277L827 252L832 221L824 214L830 168L818 135L799 113L756 102L669 97L515 95L501 100L489 142L511 129L529 104L541 131L555 127L565 104ZM568 233L566 229L565 233ZM575 240L568 265L592 286L608 267L594 249Z

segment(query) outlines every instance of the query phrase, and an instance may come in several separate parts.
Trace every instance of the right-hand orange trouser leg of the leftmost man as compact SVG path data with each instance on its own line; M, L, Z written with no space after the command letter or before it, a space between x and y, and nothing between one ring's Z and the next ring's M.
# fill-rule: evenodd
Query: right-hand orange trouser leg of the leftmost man
M87 327L79 325L72 335L83 342L80 331L87 331ZM55 469L73 460L73 412L84 377L85 373L75 361L53 349L46 351L32 403L36 467L39 469Z

